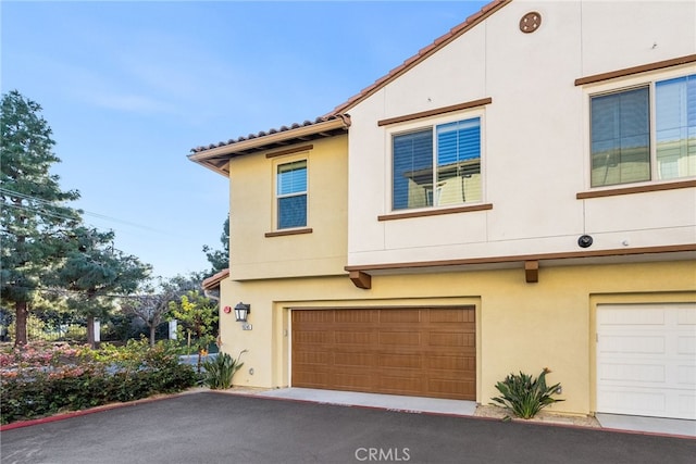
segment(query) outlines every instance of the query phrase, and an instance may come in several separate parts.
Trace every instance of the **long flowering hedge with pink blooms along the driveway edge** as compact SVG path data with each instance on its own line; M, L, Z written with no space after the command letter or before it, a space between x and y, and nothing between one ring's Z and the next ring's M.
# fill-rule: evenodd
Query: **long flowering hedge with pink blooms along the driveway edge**
M29 344L0 353L0 421L40 417L109 402L175 392L196 384L192 367L178 362L167 342L130 340L99 350L69 344Z

